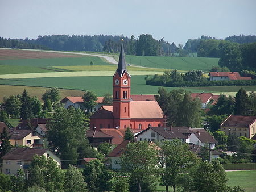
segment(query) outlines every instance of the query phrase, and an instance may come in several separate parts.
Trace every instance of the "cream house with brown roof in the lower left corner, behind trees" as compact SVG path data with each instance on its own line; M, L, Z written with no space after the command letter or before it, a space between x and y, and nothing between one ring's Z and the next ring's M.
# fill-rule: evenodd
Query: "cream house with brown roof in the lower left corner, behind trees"
M2 157L2 173L16 175L19 169L23 169L26 173L35 155L52 157L60 166L60 158L49 149L14 148Z

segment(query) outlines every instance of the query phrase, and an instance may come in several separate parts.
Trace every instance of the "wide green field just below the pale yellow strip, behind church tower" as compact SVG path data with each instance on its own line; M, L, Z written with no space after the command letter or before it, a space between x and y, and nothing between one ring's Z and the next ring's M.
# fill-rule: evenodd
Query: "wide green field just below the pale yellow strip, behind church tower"
M159 86L146 85L145 76L131 77L131 94L156 94ZM92 90L98 96L104 93L112 93L112 76L105 77L48 77L48 78L23 78L23 79L0 79L0 84L23 85L39 87L60 87L63 89ZM255 91L256 86L221 86L221 87L186 87L185 90L200 93L202 91L210 93L236 92L240 87L246 91ZM168 91L179 89L177 87L166 87ZM0 95L4 95L0 90Z

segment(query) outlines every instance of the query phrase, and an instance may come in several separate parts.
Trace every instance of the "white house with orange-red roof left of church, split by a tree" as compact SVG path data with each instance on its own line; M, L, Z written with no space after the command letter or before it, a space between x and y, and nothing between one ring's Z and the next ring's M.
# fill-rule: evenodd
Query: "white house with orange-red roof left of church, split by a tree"
M103 98L104 97L97 97L97 105L93 108L92 111L97 111L101 106L102 106L102 102L103 102ZM80 108L80 110L85 110L84 108L84 100L82 99L81 96L71 96L71 97L65 97L64 99L62 99L60 101L60 103L64 104L64 108L70 108L70 107L74 107L74 108Z

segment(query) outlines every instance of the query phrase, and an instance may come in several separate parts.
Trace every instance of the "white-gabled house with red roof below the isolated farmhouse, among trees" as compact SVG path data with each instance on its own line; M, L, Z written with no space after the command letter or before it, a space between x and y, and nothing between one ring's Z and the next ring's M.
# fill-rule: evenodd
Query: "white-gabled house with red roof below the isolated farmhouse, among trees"
M218 101L218 95L213 95L212 93L191 93L192 98L199 98L202 103L202 108L207 108L207 105L210 103L214 105Z

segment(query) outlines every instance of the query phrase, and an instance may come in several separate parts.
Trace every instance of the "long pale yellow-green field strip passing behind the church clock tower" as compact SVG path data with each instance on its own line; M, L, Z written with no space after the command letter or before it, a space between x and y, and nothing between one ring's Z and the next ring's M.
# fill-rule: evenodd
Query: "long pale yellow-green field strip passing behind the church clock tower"
M151 74L162 74L156 71L131 71L133 76L143 76ZM79 71L79 72L50 72L50 73L21 73L21 74L2 74L0 78L43 78L43 77L93 77L93 76L113 76L113 71Z

